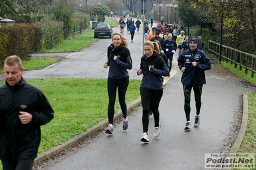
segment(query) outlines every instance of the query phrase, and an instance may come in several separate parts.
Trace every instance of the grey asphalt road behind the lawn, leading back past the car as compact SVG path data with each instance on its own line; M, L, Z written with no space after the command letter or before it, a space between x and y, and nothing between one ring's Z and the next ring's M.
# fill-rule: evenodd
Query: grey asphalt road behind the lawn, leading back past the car
M113 30L114 32L118 32L119 27L114 27ZM129 70L130 79L140 79L136 75L136 72L140 68L140 58L143 50L142 34L136 33L134 35L134 42L131 43L131 36L127 33L125 27L124 36L129 42L129 49L131 50L133 61L133 68ZM99 41L79 52L60 53L58 55L65 58L60 63L56 63L42 70L24 72L23 77L25 79L49 77L107 78L109 68L103 68L103 64L107 61L107 49L111 43L110 38L100 38ZM33 54L33 56L36 56L36 54Z

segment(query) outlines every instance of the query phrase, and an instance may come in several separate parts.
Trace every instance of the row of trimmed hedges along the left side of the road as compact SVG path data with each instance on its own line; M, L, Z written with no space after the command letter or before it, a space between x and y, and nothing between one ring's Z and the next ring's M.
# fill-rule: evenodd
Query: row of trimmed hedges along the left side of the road
M39 15L37 24L15 24L0 27L0 67L8 56L17 55L29 59L31 54L41 49L51 49L64 40L63 22L51 20L51 15ZM28 20L28 16L24 20ZM19 20L20 21L20 20ZM67 35L87 29L90 15L73 15Z

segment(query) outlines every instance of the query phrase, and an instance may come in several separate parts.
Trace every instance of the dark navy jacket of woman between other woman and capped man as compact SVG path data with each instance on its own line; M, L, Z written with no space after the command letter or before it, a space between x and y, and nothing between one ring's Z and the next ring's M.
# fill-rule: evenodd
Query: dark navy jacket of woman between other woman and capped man
M151 65L150 70L148 66ZM141 58L140 70L142 70L143 78L140 84L141 88L158 90L163 89L162 76L170 75L168 66L161 56L156 52L149 58L144 54ZM140 71L138 70L138 72ZM137 73L138 73L137 72Z

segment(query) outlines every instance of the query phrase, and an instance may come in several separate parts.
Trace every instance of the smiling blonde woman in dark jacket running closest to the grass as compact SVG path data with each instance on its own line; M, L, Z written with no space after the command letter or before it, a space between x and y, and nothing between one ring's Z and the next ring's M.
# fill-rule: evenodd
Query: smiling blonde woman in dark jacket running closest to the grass
M115 114L116 88L118 88L118 98L124 116L123 130L128 128L127 105L125 104L125 94L129 84L128 70L132 69L132 58L126 39L120 33L114 33L111 45L108 47L108 61L104 63L104 68L108 68L108 121L107 134L113 134L113 118Z

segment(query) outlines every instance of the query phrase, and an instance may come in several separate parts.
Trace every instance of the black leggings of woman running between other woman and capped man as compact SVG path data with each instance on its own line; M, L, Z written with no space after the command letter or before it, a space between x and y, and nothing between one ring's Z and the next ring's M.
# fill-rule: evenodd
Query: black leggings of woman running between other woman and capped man
M140 88L141 105L142 105L142 125L143 133L148 132L148 112L150 111L150 106L152 107L152 112L154 114L155 125L154 127L159 127L159 103L163 96L163 89L150 90L145 88ZM151 104L150 104L151 102Z

